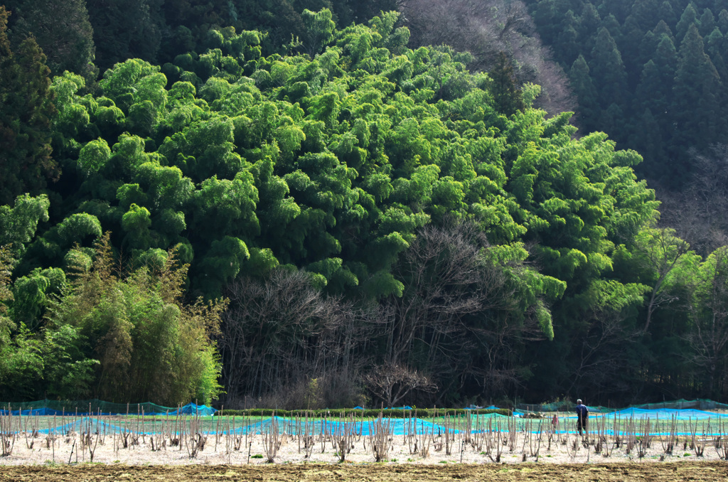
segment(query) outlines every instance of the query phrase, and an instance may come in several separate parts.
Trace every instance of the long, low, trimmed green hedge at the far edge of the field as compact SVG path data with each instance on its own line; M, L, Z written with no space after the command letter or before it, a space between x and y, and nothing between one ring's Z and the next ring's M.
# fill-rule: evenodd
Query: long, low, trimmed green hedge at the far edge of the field
M215 416L309 416L312 418L324 418L324 417L348 417L349 415L355 417L376 417L381 416L389 417L392 419L405 419L412 416L419 418L432 418L438 416L464 416L466 413L471 415L484 415L484 414L500 414L505 416L512 416L513 411L508 408L336 408L336 409L324 409L324 410L276 410L274 408L248 408L248 410L230 410L225 408L215 412Z

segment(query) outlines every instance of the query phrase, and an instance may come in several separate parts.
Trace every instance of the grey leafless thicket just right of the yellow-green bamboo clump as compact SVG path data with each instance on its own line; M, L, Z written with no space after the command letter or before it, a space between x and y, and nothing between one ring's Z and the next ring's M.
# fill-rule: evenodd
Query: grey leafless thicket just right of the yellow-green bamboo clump
M366 307L325 296L308 273L285 270L265 281L240 277L226 296L230 304L219 341L225 406L280 395L271 404L284 408L295 402L289 398L299 388L309 390L312 379L341 397L355 390L358 368L367 360L360 350L372 325Z

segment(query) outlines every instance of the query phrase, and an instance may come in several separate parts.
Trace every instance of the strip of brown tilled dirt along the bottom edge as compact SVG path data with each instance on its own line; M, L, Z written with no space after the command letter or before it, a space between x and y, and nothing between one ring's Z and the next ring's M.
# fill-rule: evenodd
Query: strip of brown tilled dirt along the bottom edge
M610 464L403 465L282 464L130 466L107 464L0 467L0 481L691 481L724 482L726 462L617 462Z

